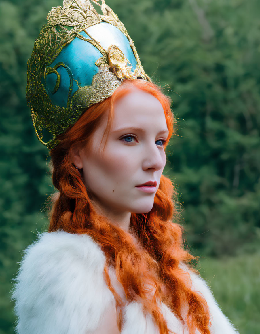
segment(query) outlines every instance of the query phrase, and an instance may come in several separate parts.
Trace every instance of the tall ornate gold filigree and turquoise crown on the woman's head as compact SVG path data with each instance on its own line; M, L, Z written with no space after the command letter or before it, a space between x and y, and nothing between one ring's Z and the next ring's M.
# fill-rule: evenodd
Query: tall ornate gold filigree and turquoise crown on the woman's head
M63 7L52 8L27 63L27 103L36 135L49 149L124 79L150 81L118 16L104 0L84 1L64 0Z

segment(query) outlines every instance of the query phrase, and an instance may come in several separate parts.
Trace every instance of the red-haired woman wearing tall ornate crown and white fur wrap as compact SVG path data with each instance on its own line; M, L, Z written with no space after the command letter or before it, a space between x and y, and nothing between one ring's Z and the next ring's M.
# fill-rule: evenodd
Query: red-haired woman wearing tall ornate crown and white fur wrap
M173 185L162 175L170 100L104 1L101 9L70 0L53 8L28 61L28 104L58 193L49 231L16 278L17 333L237 333L172 223ZM94 48L98 69L82 65L86 54L88 65L97 59Z

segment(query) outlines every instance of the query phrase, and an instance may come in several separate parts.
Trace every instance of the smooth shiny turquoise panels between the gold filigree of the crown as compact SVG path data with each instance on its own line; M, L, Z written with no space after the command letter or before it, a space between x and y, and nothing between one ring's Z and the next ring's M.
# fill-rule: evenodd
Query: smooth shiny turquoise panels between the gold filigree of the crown
M110 23L101 22L87 28L86 31L105 50L108 50L110 45L119 47L131 63L132 71L135 70L137 61L129 40L117 27ZM82 31L80 34L90 39L85 31ZM57 63L63 63L68 66L68 69L63 66L59 66L56 69L60 75L60 83L57 91L53 93L57 80L55 73L48 74L45 79L42 78L41 81L48 92L51 103L59 107L67 107L71 83L71 96L78 90L79 86L90 86L93 76L99 70L95 65L95 61L100 57L102 57L102 54L94 45L80 38L76 37L66 45L55 60L48 66L53 67Z

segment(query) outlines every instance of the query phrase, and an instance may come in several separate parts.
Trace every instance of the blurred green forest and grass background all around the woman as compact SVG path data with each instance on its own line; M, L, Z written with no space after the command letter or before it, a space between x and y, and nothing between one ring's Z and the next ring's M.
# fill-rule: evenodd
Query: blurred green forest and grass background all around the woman
M176 184L186 243L224 312L257 334L260 281L259 0L107 0L147 74L173 100L164 173ZM61 0L0 0L0 334L11 334L12 278L52 193L48 150L26 104L26 62ZM224 275L223 275L224 274Z

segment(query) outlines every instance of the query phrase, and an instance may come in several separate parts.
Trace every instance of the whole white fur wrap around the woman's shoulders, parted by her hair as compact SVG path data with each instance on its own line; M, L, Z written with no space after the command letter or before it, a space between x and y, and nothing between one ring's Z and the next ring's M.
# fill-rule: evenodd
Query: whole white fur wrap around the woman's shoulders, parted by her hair
M17 334L91 334L108 307L115 307L114 296L103 278L105 256L87 234L61 230L44 232L25 251L15 279ZM189 271L192 290L208 302L213 334L238 333L225 317L212 292L197 274ZM124 300L124 291L112 268L111 282ZM164 304L161 305L168 328L188 334L185 326ZM137 302L124 308L122 334L158 334L150 315L144 315Z

